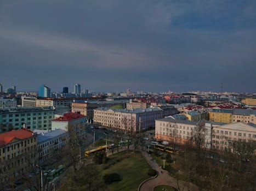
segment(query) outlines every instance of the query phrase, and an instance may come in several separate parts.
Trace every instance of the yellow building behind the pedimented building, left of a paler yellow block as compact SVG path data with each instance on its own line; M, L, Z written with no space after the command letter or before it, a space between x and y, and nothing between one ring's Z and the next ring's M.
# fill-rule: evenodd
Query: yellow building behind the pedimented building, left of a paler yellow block
M233 110L219 109L209 111L209 120L220 123L232 123Z

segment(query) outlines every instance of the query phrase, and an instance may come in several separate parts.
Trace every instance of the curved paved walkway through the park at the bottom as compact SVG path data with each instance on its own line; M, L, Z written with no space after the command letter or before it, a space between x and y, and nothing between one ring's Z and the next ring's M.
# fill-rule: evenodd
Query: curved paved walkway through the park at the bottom
M168 174L168 171L161 169L160 166L158 166L158 164L154 160L152 160L152 157L148 153L143 152L143 156L146 159L147 163L149 163L150 166L158 172L158 176L156 176L155 178L149 178L149 180L144 181L138 188L139 191L153 191L154 187L162 184L169 185L178 189L177 180L171 177ZM185 186L184 181L179 181L179 186L180 189L184 191L199 190L197 186L195 186L195 184L190 184L190 189L188 189L187 186Z

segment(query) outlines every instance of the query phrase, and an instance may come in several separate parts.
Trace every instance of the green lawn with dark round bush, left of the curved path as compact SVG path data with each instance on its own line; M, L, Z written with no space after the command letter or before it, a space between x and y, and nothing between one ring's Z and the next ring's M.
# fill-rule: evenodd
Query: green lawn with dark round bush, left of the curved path
M115 162L115 164L110 165L110 163L113 162ZM102 176L107 173L116 172L122 177L120 182L113 182L107 186L111 191L135 191L138 189L141 182L150 177L147 175L147 171L151 167L147 164L146 160L140 156L140 153L128 154L126 152L121 152L114 154L110 157L110 160L106 165L110 166L101 171Z

